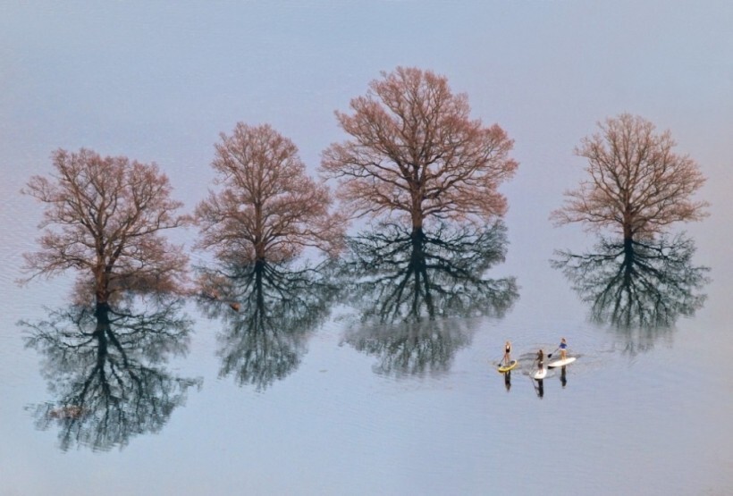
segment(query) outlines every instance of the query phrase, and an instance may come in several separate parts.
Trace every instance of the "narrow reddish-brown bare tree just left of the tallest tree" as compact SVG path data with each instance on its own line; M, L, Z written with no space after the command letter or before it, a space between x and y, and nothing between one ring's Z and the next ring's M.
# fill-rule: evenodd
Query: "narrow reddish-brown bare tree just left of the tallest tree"
M306 175L290 139L241 122L221 139L211 165L223 189L196 208L198 248L236 265L290 261L306 247L341 248L344 223L328 212L330 192Z

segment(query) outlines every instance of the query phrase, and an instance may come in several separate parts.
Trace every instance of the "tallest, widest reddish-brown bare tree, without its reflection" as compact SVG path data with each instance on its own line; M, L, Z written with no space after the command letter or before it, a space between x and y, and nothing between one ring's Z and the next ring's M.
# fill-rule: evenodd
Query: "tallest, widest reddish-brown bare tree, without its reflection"
M468 116L468 97L431 71L382 72L353 114L336 112L351 139L323 153L321 169L340 181L338 196L352 214L398 214L422 231L437 218L486 223L506 212L499 192L517 162L513 141L498 125Z

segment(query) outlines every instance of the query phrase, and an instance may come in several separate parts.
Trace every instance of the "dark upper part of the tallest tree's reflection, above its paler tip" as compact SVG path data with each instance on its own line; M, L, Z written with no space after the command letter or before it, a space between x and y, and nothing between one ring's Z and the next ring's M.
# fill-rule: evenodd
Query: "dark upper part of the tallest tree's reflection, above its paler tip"
M503 261L506 228L445 225L410 233L391 223L349 241L343 286L365 321L422 316L504 315L518 297L514 278L484 279Z

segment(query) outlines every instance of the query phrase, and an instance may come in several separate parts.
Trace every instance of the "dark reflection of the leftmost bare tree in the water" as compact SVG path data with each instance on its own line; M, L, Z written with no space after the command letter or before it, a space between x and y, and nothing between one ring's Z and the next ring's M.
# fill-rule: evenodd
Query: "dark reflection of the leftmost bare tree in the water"
M43 356L42 374L55 400L35 407L38 428L59 427L62 450L127 445L159 432L200 380L164 368L188 350L191 322L180 304L133 313L72 306L50 313L29 329L26 346Z

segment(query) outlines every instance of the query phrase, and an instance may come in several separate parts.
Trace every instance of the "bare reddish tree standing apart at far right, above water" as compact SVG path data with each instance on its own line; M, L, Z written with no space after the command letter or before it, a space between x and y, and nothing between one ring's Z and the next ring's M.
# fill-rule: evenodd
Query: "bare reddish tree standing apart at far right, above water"
M708 204L691 198L705 178L692 158L672 151L669 130L655 134L652 122L628 113L598 125L601 132L575 150L587 159L590 179L565 193L566 205L551 215L557 225L610 227L636 240L706 215Z

